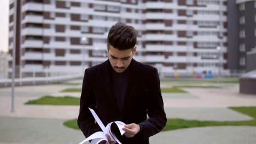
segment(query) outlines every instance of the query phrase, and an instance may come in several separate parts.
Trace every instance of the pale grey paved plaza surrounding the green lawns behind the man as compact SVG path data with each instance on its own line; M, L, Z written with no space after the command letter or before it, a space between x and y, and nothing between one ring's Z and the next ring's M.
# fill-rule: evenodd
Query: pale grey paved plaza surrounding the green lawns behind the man
M78 82L81 81L72 81ZM170 87L163 83L161 87ZM60 92L81 85L41 85L15 88L15 112L11 113L11 88L0 88L0 144L79 143L80 130L62 125L78 117L79 106L24 105L44 95L60 97L80 93ZM256 95L238 93L238 85L223 88L183 88L189 93L162 93L168 118L200 121L245 121L253 119L229 106L256 106ZM150 143L255 143L256 127L201 127L163 131L150 137Z

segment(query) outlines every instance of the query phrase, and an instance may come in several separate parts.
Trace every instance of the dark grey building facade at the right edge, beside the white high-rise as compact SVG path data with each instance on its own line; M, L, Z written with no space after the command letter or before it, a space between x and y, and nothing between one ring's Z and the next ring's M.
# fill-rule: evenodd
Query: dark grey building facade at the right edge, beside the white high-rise
M256 47L256 1L228 1L228 68L231 73L247 69L247 52Z

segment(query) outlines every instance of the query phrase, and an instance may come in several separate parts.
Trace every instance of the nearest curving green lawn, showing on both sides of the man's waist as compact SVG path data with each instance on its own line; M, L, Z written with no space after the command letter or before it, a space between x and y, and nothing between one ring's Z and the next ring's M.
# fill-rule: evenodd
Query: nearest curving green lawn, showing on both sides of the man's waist
M245 115L254 117L251 121L195 121L195 120L185 120L181 118L171 118L167 119L166 126L164 131L166 130L175 130L175 129L183 129L183 128L194 128L194 127L208 127L208 126L228 126L228 125L248 125L248 126L256 126L256 107L229 107L229 109L235 110L237 112L241 112ZM77 119L71 119L63 123L66 127L79 129L77 125Z

